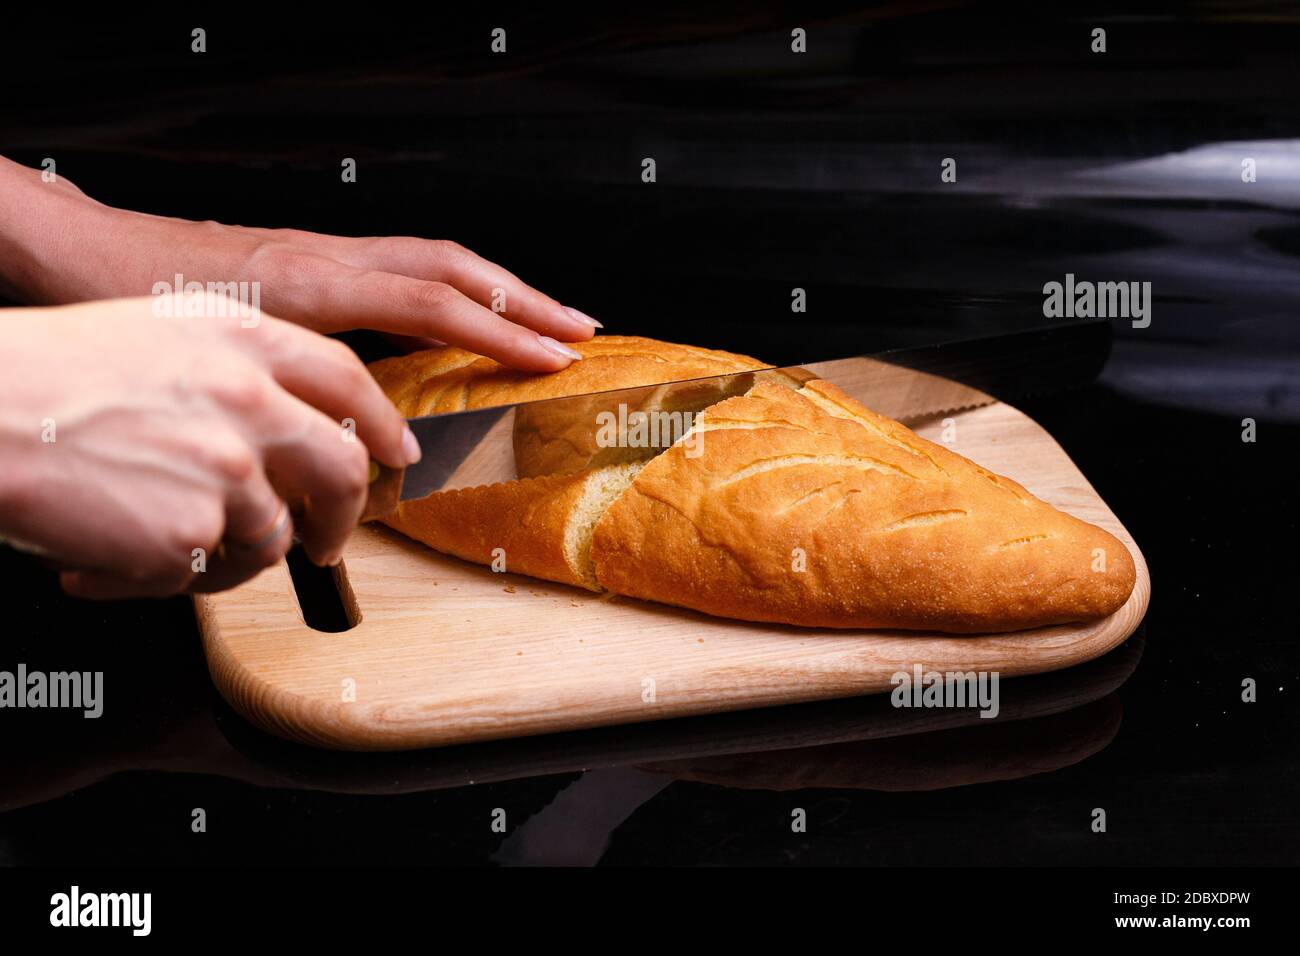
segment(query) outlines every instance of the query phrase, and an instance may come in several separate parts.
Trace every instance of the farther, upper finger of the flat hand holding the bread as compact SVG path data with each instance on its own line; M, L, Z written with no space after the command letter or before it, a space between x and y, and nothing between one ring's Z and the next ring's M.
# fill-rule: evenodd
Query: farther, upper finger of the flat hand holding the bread
M510 271L455 242L386 237L347 239L334 252L339 261L364 269L445 282L480 306L542 336L585 342L601 324L562 306Z

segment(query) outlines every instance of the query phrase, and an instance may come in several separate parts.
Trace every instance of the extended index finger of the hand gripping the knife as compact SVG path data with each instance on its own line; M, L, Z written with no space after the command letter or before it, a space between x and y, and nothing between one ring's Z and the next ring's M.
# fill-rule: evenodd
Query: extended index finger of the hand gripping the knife
M420 444L356 354L342 342L291 323L263 317L233 333L257 347L287 392L348 425L378 460L402 468L420 460Z

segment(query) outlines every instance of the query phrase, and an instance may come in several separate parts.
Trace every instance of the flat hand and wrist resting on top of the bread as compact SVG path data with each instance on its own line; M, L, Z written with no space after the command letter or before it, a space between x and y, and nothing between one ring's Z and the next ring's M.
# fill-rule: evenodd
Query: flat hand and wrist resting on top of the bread
M0 286L58 304L248 282L259 306L316 332L376 329L554 372L598 323L454 242L346 238L114 209L0 157ZM176 290L179 291L179 290ZM437 342L436 342L437 341Z

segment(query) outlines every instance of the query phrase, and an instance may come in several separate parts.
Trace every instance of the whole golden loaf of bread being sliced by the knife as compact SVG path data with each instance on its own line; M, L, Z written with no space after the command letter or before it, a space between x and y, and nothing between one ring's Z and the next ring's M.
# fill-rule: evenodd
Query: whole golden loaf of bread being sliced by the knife
M439 349L378 363L376 377L408 416L697 369L757 381L708 405L656 457L601 462L562 441L584 467L542 475L529 472L549 454L538 438L523 445L521 472L534 476L407 501L385 523L508 571L807 627L1011 631L1105 617L1132 591L1134 562L1115 537L829 382L764 380L754 359L651 339L577 347L597 362L552 376ZM465 375L471 365L478 372ZM529 429L554 438L578 425L590 431L590 420L547 419ZM520 447L516 432L516 457Z

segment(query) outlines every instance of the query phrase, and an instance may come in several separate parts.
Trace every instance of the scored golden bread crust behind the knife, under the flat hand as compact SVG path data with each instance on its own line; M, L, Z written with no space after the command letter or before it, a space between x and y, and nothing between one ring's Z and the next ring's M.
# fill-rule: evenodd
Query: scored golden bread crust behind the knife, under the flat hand
M572 343L581 355L568 368L536 375L506 368L464 349L443 346L380 359L370 375L403 418L582 395L607 389L771 368L758 359L640 336L597 336Z

